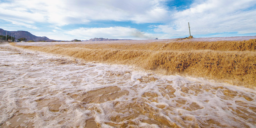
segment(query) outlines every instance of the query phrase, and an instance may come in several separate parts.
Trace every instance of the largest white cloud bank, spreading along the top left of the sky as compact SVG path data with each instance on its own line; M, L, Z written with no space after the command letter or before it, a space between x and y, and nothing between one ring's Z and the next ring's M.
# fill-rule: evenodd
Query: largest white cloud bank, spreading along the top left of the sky
M92 20L155 23L169 15L167 8L160 4L162 1L165 0L12 0L0 3L0 15L3 19L57 26Z

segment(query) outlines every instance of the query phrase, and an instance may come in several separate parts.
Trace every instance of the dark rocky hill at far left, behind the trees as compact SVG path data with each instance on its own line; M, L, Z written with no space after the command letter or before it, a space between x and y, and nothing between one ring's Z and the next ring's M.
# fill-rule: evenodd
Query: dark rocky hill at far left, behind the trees
M6 30L3 30L0 28L0 35L6 35ZM52 40L52 39L49 39L47 38L46 36L35 36L33 34L31 34L30 32L28 31L7 31L7 35L11 36L11 35L14 35L15 39L19 39L19 38L26 38L27 41L28 40L34 40L36 42L39 42L39 41L47 41L47 42L52 42L52 41L56 41L56 40Z

